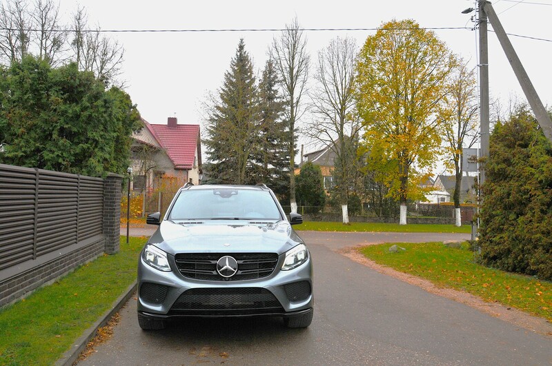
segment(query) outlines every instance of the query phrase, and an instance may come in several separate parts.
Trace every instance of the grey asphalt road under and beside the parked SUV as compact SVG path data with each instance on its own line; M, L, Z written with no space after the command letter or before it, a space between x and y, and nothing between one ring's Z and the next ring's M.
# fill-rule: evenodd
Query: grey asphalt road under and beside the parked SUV
M136 301L79 365L552 365L552 340L338 254L363 243L444 241L461 234L302 232L315 264L307 329L278 318L199 319L144 332Z

